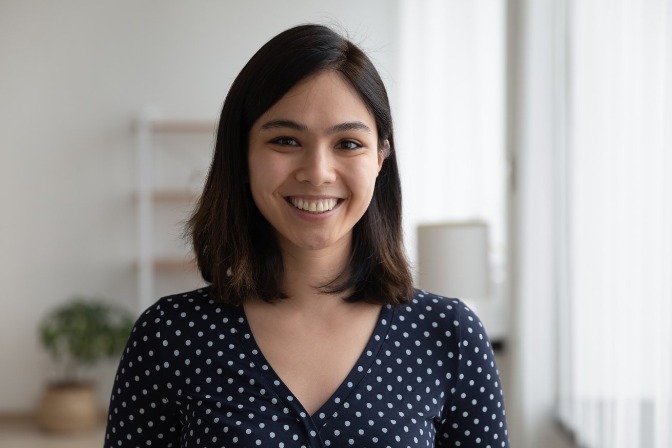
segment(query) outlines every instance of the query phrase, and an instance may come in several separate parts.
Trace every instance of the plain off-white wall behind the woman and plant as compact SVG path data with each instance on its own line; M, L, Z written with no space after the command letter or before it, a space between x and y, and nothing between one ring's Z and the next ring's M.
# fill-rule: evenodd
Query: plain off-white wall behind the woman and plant
M394 101L396 1L26 1L0 4L0 412L34 408L50 363L36 326L72 294L136 303L136 159L145 105L212 118L261 44L337 22ZM107 399L114 363L99 372Z

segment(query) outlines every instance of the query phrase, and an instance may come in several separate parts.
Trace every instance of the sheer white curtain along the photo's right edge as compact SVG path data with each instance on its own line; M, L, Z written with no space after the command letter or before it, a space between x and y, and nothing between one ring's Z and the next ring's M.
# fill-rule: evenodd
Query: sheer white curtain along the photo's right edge
M672 1L566 9L559 410L580 446L672 447Z

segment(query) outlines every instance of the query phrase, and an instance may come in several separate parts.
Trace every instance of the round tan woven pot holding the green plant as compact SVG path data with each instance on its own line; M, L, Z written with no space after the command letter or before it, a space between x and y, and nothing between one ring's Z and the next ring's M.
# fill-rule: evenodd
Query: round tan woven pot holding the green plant
M38 424L42 429L83 431L99 421L100 410L93 384L51 384L44 390L38 408Z

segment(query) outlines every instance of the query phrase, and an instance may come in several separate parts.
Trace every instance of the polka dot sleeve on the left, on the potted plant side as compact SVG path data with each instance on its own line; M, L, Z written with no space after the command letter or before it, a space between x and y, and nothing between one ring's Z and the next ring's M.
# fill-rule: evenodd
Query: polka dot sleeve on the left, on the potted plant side
M112 388L105 448L179 447L179 414L163 381L161 304L135 323Z

